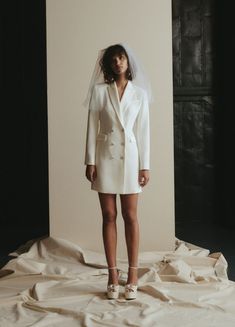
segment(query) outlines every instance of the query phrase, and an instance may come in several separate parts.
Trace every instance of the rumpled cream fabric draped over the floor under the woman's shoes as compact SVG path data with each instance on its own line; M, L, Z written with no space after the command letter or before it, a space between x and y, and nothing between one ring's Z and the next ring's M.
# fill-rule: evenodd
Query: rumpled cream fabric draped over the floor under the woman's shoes
M138 298L106 298L103 253L58 238L31 240L0 270L0 326L235 326L235 283L223 254L176 239L139 254ZM118 259L120 285L128 263Z

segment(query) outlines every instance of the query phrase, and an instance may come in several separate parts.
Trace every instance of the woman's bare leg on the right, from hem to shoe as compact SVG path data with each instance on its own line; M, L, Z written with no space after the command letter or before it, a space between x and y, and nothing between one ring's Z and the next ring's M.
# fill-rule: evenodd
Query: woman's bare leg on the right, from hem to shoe
M138 266L139 223L137 220L138 193L120 194L122 216L125 223L125 237L129 266ZM137 284L138 270L129 268L127 284Z

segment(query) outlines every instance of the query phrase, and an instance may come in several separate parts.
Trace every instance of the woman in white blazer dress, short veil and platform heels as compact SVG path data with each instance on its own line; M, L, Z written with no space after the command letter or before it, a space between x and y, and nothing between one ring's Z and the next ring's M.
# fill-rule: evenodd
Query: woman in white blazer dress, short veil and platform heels
M100 77L103 81L97 83ZM135 84L135 80L144 86ZM123 44L115 44L100 52L88 92L86 177L91 189L99 195L109 269L107 296L111 299L119 294L117 194L120 195L129 262L125 297L135 299L137 296L137 202L138 193L149 181L150 166L149 94L145 82L131 50Z

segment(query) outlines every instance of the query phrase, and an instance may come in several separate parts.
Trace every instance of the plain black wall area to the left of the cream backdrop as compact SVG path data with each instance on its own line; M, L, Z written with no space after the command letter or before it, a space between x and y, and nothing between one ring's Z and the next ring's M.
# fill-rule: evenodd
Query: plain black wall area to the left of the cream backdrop
M1 252L48 234L45 1L1 2Z

